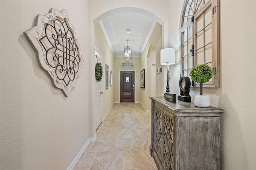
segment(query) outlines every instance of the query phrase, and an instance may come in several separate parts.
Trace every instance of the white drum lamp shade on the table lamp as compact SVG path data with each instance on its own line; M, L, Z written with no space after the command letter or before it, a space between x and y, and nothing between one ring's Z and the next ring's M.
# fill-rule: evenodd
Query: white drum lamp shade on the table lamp
M161 65L175 64L175 49L174 48L161 49L160 64Z

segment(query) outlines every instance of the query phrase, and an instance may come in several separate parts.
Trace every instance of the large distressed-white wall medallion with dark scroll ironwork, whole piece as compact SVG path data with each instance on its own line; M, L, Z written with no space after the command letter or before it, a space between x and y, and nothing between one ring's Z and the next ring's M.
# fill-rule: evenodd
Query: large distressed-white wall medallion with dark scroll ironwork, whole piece
M36 25L24 32L38 52L38 63L48 72L65 96L76 85L84 63L74 27L66 10L51 9L38 15Z

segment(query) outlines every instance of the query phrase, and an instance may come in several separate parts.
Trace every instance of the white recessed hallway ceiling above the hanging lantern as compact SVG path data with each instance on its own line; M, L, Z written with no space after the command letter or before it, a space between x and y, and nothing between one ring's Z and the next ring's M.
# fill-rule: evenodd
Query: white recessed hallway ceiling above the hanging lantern
M124 46L132 46L132 57L140 57L156 21L137 12L120 12L100 21L100 26L115 57L124 57ZM130 33L127 33L130 29Z

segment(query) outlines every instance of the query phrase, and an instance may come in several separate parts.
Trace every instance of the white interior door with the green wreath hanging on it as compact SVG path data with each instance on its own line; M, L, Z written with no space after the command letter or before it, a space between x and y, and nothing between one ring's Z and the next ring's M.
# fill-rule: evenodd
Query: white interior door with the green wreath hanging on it
M102 56L100 55L99 51L95 49L95 65L96 63L102 62ZM95 113L94 113L94 127L97 129L102 122L102 82L97 82L95 80Z

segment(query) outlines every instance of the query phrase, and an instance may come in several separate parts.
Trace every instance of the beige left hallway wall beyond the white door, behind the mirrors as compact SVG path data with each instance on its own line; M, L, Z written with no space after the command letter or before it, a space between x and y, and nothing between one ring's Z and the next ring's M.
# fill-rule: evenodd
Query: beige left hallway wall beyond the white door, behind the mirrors
M105 64L109 66L109 71L112 70L112 75L116 74L114 71L114 55L108 45L106 37L100 27L99 23L95 24L95 46L100 50L102 54L102 66L103 66L103 77L102 77L102 118L106 117L106 114L110 111L114 104L114 81L112 86L109 88L106 87L106 70ZM114 78L113 78L114 79ZM98 107L98 106L97 106Z

